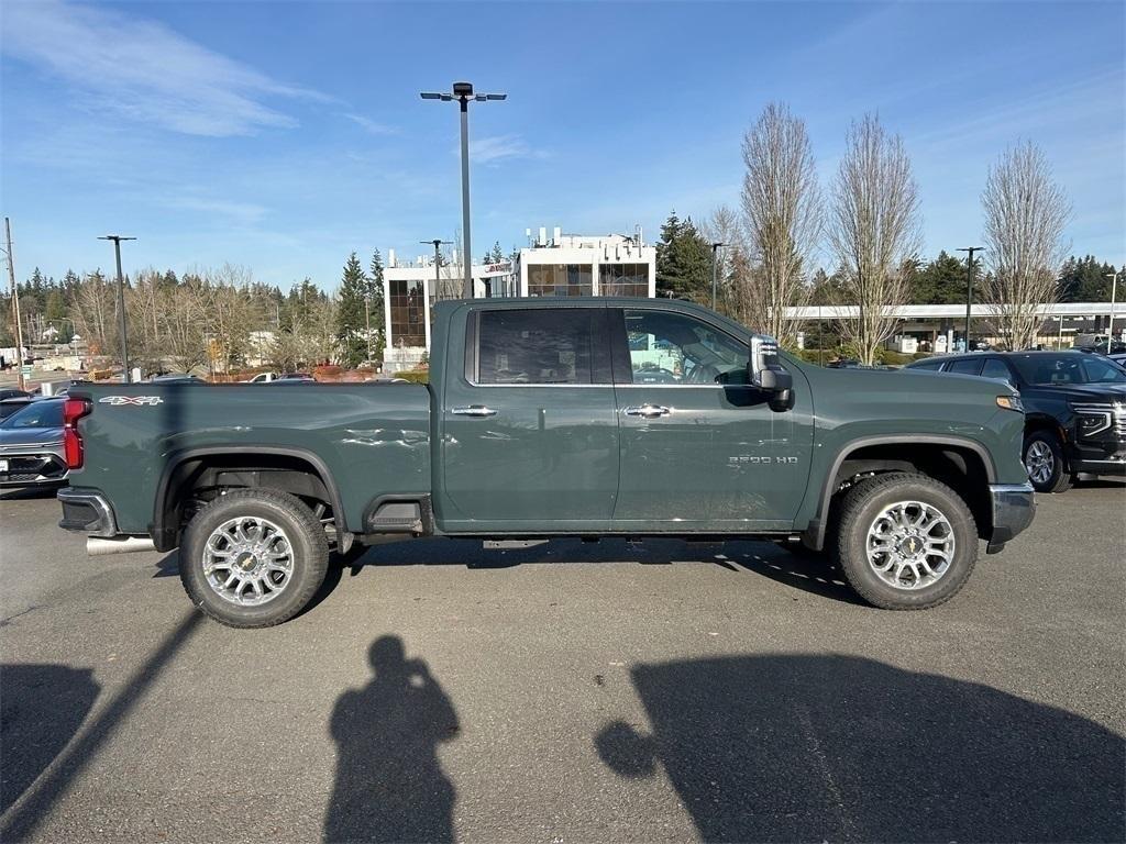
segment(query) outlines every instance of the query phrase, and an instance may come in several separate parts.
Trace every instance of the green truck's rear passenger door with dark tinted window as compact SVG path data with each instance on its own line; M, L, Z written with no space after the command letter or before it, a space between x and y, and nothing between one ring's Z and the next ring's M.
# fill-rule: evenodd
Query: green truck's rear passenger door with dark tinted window
M441 407L447 530L609 523L618 420L607 315L531 303L467 315L465 371L447 371Z

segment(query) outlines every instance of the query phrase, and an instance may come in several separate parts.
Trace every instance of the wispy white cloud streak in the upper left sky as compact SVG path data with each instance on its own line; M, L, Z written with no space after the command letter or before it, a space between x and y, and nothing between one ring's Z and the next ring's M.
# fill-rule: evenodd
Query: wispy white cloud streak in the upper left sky
M297 120L267 98L330 98L214 53L167 26L61 0L5 3L0 50L65 80L86 105L188 135L249 135Z

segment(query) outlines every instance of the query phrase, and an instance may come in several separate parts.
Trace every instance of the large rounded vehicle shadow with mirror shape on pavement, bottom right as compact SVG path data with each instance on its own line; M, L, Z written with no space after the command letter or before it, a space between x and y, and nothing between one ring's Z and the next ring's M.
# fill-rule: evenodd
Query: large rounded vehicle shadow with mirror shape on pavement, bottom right
M652 733L610 724L598 753L627 779L663 766L705 841L1123 836L1123 738L1061 709L847 656L632 677Z

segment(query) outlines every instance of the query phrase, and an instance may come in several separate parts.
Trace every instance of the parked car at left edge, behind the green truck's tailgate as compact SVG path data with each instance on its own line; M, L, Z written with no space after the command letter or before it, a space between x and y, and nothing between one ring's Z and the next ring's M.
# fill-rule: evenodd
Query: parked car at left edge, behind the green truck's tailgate
M26 399L0 422L0 486L36 486L66 481L63 437L65 398Z

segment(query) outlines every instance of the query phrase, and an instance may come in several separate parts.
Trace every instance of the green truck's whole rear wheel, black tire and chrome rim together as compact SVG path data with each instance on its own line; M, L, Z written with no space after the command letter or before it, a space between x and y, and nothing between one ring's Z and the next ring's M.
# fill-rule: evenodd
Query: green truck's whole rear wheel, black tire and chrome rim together
M229 627L296 616L324 581L329 545L313 512L276 490L233 490L200 510L180 545L191 602Z

